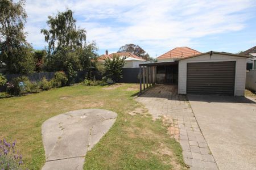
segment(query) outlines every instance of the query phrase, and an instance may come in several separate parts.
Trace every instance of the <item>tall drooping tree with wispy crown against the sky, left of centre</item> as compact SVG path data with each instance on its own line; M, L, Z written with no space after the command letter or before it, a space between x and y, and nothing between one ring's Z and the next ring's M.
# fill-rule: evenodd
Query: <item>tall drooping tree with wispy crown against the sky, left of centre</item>
M82 48L86 40L85 29L76 29L76 20L73 12L67 10L59 12L55 17L48 16L49 30L41 29L44 39L48 42L48 52L67 49Z

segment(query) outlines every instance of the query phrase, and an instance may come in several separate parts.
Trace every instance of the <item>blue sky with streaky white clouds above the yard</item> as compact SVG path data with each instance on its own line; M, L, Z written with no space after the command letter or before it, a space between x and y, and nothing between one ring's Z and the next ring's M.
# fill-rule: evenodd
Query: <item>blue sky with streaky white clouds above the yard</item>
M47 17L67 8L100 55L125 44L137 44L153 58L177 46L237 53L256 45L255 0L27 0L25 31L35 49L47 46L40 33L48 29Z

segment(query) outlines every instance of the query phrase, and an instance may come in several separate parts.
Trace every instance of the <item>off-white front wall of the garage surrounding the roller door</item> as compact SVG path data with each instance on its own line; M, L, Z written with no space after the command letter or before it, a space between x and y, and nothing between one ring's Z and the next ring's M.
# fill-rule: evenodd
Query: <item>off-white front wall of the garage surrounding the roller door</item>
M221 62L236 61L235 96L243 96L245 93L246 58L227 56L222 54L205 54L198 57L187 58L179 61L179 94L187 94L187 63L189 62Z

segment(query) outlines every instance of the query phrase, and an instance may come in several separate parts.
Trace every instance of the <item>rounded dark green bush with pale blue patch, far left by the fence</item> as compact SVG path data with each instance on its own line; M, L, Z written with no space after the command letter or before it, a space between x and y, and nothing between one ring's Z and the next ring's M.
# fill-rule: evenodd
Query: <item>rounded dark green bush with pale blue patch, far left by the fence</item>
M17 78L13 78L11 82L7 82L6 85L6 91L8 94L20 96L29 91L30 80L28 80L26 76L19 76Z

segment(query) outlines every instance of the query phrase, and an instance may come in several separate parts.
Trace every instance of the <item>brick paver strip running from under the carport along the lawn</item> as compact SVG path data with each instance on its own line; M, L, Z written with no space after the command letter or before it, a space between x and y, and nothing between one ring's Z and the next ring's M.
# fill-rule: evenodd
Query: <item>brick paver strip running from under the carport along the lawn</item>
M218 169L187 97L177 94L177 86L156 85L136 100L145 105L153 118L172 120L169 131L180 142L184 161L191 169Z

